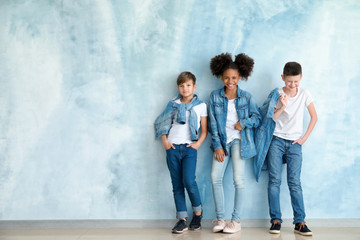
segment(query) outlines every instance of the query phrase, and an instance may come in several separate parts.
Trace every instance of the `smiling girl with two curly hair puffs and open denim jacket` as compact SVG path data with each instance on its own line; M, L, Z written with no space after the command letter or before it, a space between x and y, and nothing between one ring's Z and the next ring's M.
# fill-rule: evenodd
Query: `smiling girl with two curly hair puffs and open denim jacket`
M210 95L209 132L214 151L211 170L217 222L213 232L235 233L241 230L241 196L245 180L245 159L256 155L254 129L260 125L261 116L250 93L240 89L240 80L247 80L252 73L254 60L241 53L235 61L229 53L211 59L210 69L221 79L224 87ZM225 221L223 178L229 161L232 161L235 200L232 219ZM229 203L229 201L227 201Z

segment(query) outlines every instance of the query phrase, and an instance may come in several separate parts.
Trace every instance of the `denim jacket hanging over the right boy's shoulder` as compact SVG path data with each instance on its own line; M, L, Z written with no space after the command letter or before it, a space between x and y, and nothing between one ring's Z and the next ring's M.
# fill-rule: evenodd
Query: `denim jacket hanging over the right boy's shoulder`
M271 91L264 104L259 108L262 121L261 126L255 130L257 155L254 158L254 173L256 181L259 181L261 170L267 170L266 155L276 126L274 120L274 108L278 99L279 90L275 88Z

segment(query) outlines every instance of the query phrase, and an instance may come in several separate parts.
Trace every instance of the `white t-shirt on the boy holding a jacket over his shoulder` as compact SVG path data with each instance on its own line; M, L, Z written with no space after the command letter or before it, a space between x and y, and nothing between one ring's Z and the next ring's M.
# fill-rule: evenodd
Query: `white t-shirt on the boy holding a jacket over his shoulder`
M279 93L284 93L283 89L279 90ZM287 96L288 105L285 110L280 114L276 122L274 135L286 140L297 140L303 135L303 121L304 121L304 109L313 102L308 90L298 88L298 92L295 97ZM279 109L282 103L279 100L275 104L275 108Z

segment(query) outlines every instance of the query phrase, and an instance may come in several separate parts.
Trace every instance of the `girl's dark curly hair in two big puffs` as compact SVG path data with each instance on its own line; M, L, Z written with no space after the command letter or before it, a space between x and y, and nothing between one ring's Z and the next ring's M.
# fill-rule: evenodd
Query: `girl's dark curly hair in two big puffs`
M254 68L254 59L240 53L235 56L235 61L233 61L230 53L221 53L210 61L210 70L216 77L222 76L230 68L238 70L241 78L247 80Z

